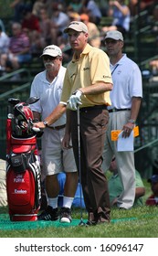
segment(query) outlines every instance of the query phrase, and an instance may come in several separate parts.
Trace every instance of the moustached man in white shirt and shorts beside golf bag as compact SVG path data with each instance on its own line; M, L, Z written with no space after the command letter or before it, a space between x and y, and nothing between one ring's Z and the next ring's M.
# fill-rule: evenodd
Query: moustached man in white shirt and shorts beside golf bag
M66 105L60 104L66 68L62 66L62 52L57 46L44 48L45 70L38 73L31 85L30 97L39 101L31 105L34 117L41 122L36 127L43 128L42 135L42 172L46 176L47 209L38 220L57 220L71 222L71 205L78 186L78 172L72 148L62 148L66 126ZM58 173L66 173L63 207L58 212Z

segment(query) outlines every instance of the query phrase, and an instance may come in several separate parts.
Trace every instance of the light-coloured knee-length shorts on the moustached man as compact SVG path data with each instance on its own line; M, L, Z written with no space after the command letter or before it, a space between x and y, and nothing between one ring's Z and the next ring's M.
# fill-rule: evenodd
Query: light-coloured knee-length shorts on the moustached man
M45 176L60 172L77 172L73 149L63 149L65 129L59 131L46 128L42 136L42 173Z

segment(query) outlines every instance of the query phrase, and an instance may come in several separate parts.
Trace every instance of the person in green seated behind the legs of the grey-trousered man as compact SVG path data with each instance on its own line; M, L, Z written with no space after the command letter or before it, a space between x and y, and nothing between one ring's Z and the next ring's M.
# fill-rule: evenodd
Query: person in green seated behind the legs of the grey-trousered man
M112 158L110 171L113 174L108 180L108 187L110 192L111 206L117 204L117 198L120 197L123 187L121 177L118 173L115 157ZM142 182L142 177L137 170L135 170L135 200L133 206L142 206L142 196L145 194L145 188Z

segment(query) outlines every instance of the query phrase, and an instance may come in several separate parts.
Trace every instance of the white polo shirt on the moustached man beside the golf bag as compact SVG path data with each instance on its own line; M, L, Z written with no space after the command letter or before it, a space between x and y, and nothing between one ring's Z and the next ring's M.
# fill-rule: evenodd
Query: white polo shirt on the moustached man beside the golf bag
M63 81L66 68L60 67L58 76L50 83L46 79L46 70L37 74L31 85L30 97L36 96L39 98L34 104L31 104L31 109L34 112L41 113L42 120L58 106L62 93ZM66 123L66 114L63 114L58 121L51 126L59 126Z

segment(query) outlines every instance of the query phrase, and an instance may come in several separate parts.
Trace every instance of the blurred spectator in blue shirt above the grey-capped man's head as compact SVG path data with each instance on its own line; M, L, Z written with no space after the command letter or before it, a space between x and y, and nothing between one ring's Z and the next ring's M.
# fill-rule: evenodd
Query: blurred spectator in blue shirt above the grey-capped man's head
M110 1L109 16L113 17L110 27L102 27L102 31L119 30L123 36L130 30L130 8L124 0Z

